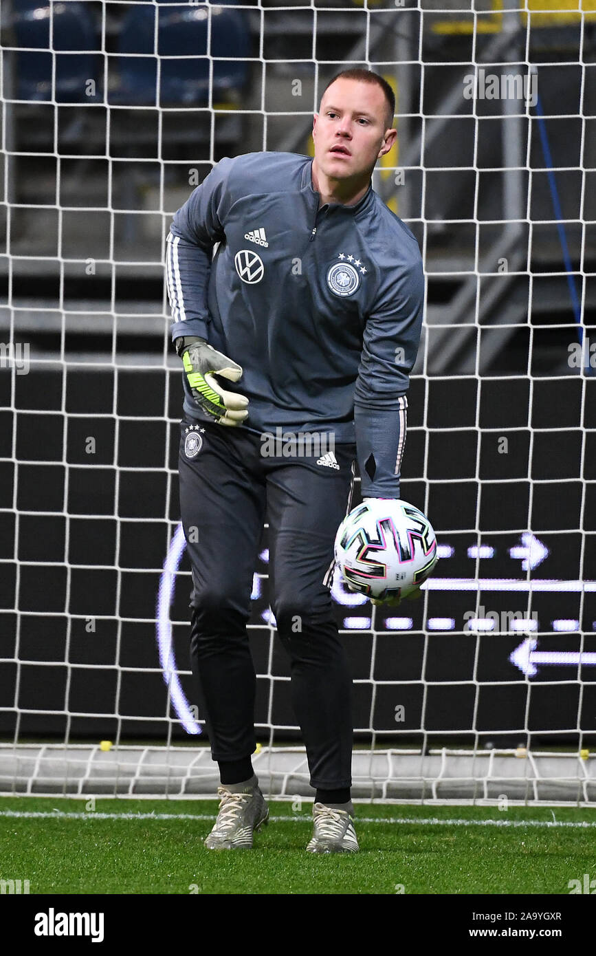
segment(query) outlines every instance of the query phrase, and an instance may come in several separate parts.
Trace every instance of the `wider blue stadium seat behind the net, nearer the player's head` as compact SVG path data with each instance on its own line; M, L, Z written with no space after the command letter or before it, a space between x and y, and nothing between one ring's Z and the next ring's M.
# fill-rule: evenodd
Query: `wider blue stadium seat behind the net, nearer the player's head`
M209 98L206 4L162 3L136 7L124 19L119 36L120 84L112 101L156 103L158 57L155 16L159 15L160 97L158 105L201 105ZM126 54L148 54L127 56ZM242 91L248 76L250 37L243 11L211 7L213 101L227 102ZM192 57L182 59L181 57Z

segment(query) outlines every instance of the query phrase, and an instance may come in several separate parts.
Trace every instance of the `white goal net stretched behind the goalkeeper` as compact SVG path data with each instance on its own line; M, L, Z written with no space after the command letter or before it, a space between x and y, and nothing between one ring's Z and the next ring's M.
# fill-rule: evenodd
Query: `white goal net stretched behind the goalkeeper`
M439 561L398 608L333 585L354 795L594 801L596 0L2 0L0 29L0 792L213 795L165 239L223 156L309 155L367 66L427 276L402 495ZM267 557L265 528L254 759L291 796Z

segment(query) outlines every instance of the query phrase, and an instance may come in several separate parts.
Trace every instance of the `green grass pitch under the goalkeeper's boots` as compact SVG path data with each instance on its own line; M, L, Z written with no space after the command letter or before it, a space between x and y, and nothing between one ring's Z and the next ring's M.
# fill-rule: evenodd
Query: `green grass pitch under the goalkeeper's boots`
M305 851L310 805L270 801L252 850L202 846L210 800L0 797L0 879L58 894L568 894L596 877L591 808L357 804L360 853ZM164 818L164 816L166 818ZM493 821L493 822L482 822Z

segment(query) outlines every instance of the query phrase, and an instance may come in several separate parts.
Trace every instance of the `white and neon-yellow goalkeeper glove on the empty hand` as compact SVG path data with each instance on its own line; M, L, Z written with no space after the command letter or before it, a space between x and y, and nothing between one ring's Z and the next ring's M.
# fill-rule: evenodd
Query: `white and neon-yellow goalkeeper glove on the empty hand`
M193 399L202 410L218 424L242 424L248 416L248 399L245 395L225 391L213 378L219 375L223 379L238 381L243 374L242 367L217 352L204 338L177 338L176 351L182 359Z

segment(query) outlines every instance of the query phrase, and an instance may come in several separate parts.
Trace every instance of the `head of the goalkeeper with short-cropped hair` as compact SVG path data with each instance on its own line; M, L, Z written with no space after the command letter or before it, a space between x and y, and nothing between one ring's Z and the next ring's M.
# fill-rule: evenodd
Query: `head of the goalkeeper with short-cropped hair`
M312 127L316 170L331 180L370 177L374 163L394 144L392 122L380 86L336 79L325 91Z

